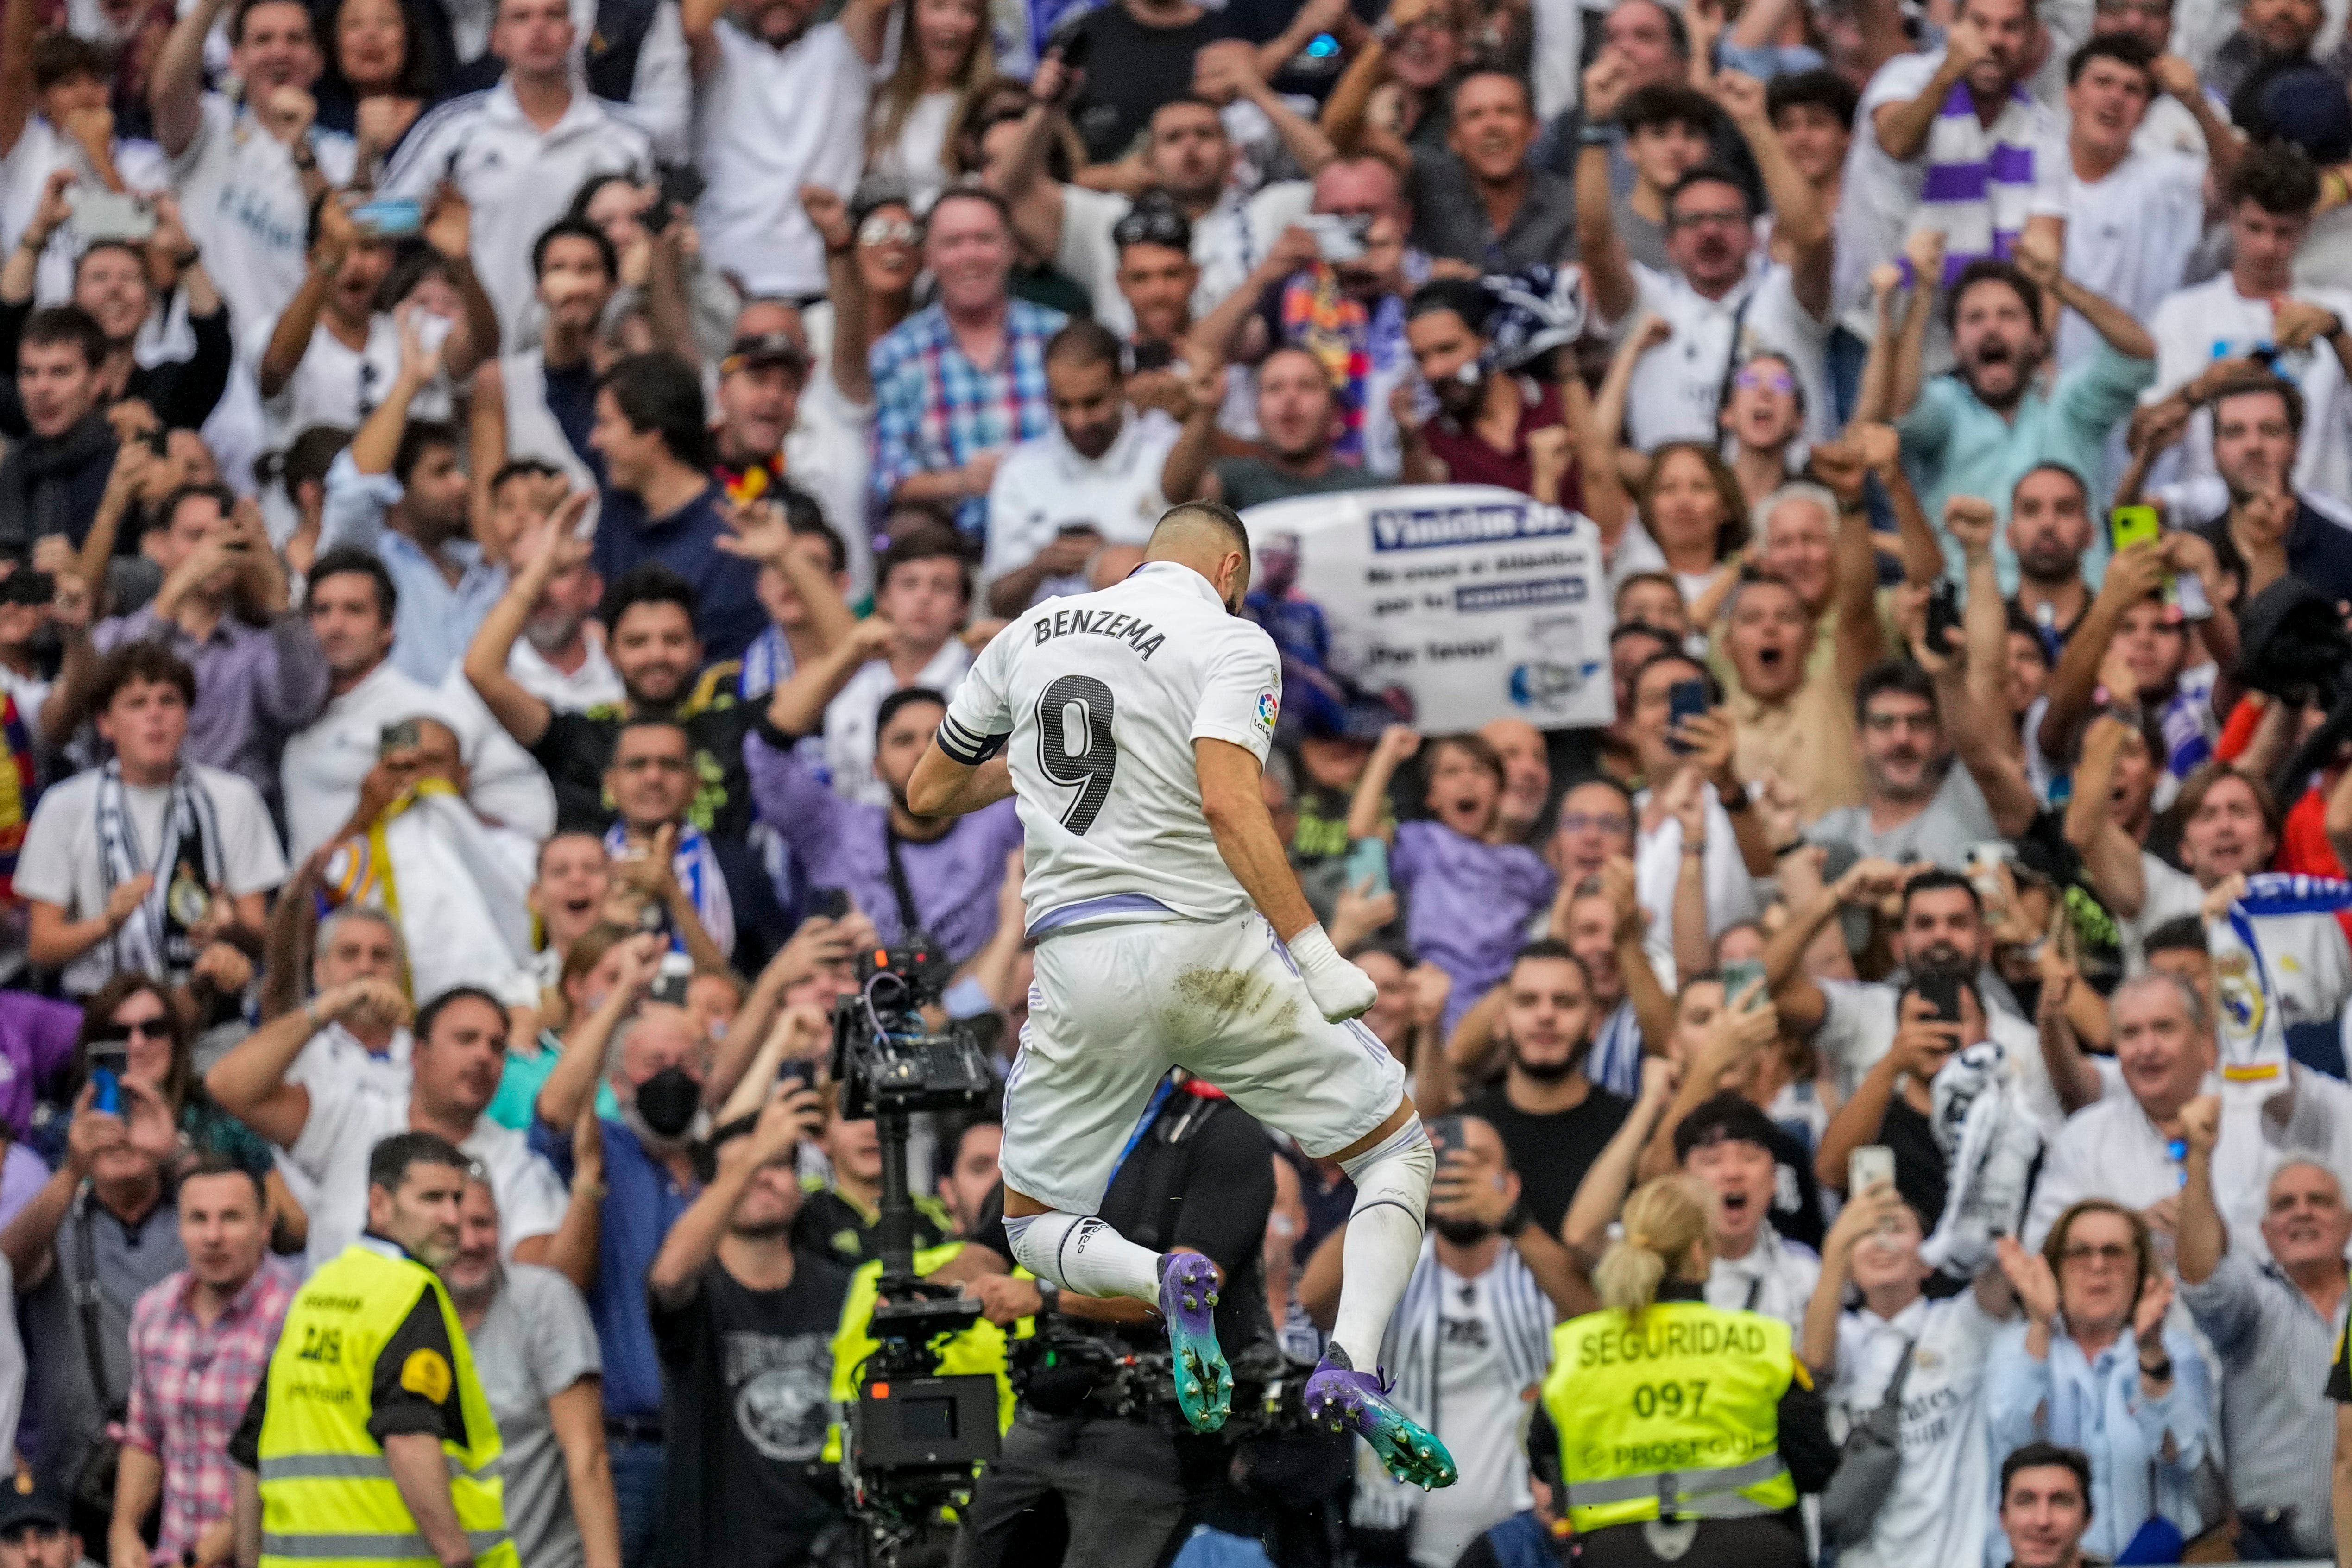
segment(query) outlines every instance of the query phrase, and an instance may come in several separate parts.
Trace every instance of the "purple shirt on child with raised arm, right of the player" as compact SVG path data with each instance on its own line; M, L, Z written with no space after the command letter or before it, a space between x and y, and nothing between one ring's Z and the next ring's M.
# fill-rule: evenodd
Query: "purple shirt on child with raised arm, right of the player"
M1510 973L1526 922L1552 900L1552 867L1526 844L1482 844L1444 823L1397 823L1388 875L1404 896L1414 952L1454 978L1439 1023L1451 1034Z

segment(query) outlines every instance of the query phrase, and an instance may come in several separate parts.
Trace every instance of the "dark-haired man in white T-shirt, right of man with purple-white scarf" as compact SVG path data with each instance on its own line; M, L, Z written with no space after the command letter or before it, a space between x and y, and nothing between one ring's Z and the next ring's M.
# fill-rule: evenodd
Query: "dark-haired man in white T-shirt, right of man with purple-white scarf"
M2138 38L2107 33L2074 49L2065 66L2065 275L2138 320L2152 317L2180 287L2190 249L2204 233L2206 160L2140 153L2133 141L2159 96L2154 61L2157 52ZM2060 371L2096 348L2089 320L2058 322Z

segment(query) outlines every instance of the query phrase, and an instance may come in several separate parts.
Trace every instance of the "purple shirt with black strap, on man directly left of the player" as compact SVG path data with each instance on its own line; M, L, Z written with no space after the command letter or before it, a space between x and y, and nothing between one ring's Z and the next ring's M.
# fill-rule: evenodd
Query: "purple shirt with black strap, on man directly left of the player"
M884 943L906 936L889 875L889 811L835 795L800 757L769 741L767 724L743 738L743 766L760 820L793 846L809 886L849 893ZM915 917L950 964L962 964L997 933L997 884L1014 849L1021 849L1021 818L1009 799L955 818L948 835L929 844L898 839Z

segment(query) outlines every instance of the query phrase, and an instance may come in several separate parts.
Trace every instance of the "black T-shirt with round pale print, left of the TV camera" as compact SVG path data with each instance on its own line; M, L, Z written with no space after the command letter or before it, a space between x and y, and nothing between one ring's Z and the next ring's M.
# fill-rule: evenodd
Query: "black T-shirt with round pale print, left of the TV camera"
M717 1262L682 1307L652 1302L663 1371L661 1568L788 1568L840 1509L816 1479L849 1269L793 1251L793 1284L748 1291Z

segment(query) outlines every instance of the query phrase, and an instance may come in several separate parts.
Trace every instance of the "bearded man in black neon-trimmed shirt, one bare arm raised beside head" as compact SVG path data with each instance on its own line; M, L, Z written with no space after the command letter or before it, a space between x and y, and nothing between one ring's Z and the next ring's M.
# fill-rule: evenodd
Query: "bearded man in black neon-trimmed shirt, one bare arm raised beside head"
M588 541L572 534L583 508L586 496L574 494L522 543L522 569L466 649L466 679L499 724L548 769L564 827L604 832L612 825L604 771L621 722L668 717L694 741L694 820L710 823L710 832L724 839L741 839L750 827L743 733L757 710L734 701L734 668L703 670L694 588L677 574L647 564L612 585L607 654L626 691L619 712L555 712L506 670L515 637L548 583L588 559Z

